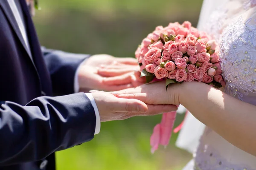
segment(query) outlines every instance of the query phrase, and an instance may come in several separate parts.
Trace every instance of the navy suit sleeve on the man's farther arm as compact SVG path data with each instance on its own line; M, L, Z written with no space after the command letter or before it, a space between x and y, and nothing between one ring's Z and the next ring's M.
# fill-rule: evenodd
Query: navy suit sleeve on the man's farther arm
M72 54L44 47L41 49L51 76L54 95L73 94L76 70L81 62L89 58L90 55Z

